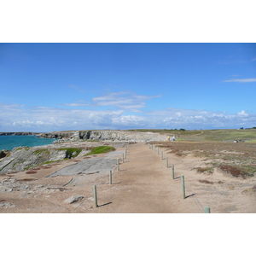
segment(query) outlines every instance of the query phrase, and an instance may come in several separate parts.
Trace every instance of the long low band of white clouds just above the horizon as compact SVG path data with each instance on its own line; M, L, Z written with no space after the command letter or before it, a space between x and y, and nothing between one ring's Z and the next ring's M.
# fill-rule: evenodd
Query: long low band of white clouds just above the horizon
M125 114L119 110L25 108L2 104L0 131L64 131L87 129L214 129L253 127L256 114L209 112L200 109L166 108L148 113ZM3 110L4 109L4 110ZM9 111L6 111L6 110Z

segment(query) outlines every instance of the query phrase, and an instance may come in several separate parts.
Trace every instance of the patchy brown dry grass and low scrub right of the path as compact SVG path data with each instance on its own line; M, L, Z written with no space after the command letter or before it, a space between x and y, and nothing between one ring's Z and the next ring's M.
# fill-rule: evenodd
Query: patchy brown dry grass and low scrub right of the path
M200 157L209 167L194 168L197 172L211 173L214 168L234 177L252 177L256 172L256 143L222 142L158 142L156 147L179 157Z

